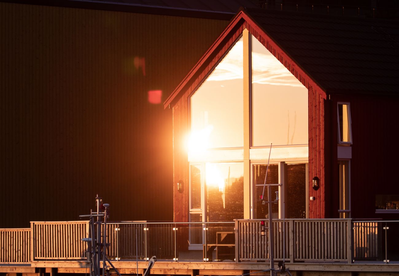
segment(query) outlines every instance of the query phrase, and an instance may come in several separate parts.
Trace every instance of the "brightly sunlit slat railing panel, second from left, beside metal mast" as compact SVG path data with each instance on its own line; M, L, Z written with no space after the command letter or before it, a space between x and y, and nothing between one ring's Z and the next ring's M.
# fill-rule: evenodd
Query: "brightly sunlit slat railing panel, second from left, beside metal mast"
M88 221L34 221L33 260L78 260L86 258Z

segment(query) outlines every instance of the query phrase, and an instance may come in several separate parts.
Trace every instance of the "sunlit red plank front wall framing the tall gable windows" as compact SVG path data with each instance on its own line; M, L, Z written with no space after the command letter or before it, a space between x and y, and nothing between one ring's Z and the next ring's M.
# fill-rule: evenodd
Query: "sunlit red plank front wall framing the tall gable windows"
M211 69L223 57L223 54L232 45L235 39L241 35L244 28L254 35L279 61L294 75L309 91L309 195L315 196L315 201L309 203L310 218L323 218L325 216L325 177L324 177L324 103L326 94L298 65L292 61L278 45L263 32L249 18L243 20L237 18L225 32L225 36L212 46L208 55L203 57L201 63L196 66L192 79L182 89L184 94L176 94L173 103L173 128L174 128L174 182L183 180L184 191L178 192L174 187L174 219L175 221L188 221L189 199L189 165L187 150L184 147L184 137L190 130L190 114L188 101L190 94L205 79ZM231 24L233 24L231 23ZM318 191L312 189L312 178L320 178L321 188Z

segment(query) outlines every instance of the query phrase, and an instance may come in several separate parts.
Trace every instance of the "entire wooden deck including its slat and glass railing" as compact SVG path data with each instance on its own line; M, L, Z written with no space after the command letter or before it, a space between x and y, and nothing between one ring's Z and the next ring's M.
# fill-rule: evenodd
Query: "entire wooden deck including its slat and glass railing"
M111 223L107 227L108 255L122 274L143 274L152 255L158 261L151 274L242 275L262 271L269 267L269 241L260 224L261 220L241 219L230 225L209 223L200 234L206 240L199 245L204 249L190 250L189 223ZM268 228L267 221L265 224ZM399 271L399 260L383 263L379 222L276 219L273 227L275 266L284 260L294 272ZM81 239L88 236L87 221L31 222L28 229L0 229L0 273L86 273L86 244Z

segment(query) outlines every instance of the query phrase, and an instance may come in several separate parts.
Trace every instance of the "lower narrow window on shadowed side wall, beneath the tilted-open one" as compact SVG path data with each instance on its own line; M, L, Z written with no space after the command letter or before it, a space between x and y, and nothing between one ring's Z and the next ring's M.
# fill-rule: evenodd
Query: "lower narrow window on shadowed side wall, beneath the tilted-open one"
M349 160L338 160L340 179L340 217L350 217Z

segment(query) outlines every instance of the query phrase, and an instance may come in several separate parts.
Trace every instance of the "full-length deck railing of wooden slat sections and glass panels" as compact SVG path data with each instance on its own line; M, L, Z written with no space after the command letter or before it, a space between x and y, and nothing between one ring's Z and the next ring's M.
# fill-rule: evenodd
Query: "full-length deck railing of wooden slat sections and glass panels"
M112 222L107 254L114 260L235 262L269 260L268 221L219 223ZM398 221L274 219L275 260L286 262L399 260ZM0 229L0 263L86 258L88 221L31 222L31 228Z

